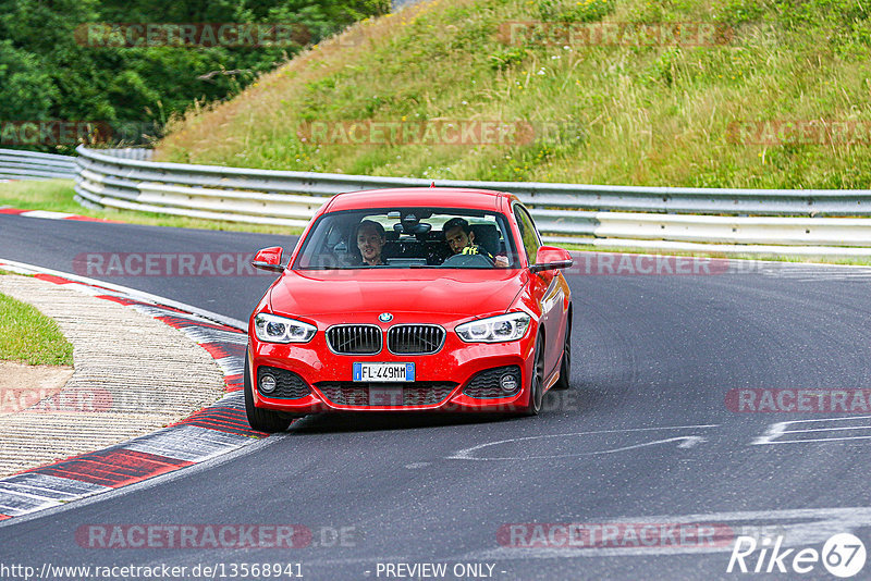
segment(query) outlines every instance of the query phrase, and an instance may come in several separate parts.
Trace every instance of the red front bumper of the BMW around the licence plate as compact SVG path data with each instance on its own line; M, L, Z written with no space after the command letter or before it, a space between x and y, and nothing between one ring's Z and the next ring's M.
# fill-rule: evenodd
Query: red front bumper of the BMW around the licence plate
M535 334L508 343L467 344L447 332L442 348L432 355L402 356L387 348L378 355L338 355L327 346L323 333L303 345L271 344L249 336L248 354L255 406L304 415L334 411L518 411L529 398ZM415 364L415 382L353 382L355 362L405 362ZM293 398L266 395L258 390L258 369L278 368L298 375L308 387L307 394L289 392ZM519 370L519 388L499 397L471 397L464 393L479 373L495 368ZM492 376L493 373L490 375ZM402 387L401 394L385 387ZM380 390L380 391L378 391ZM392 393L385 396L384 393ZM477 392L478 395L498 391Z

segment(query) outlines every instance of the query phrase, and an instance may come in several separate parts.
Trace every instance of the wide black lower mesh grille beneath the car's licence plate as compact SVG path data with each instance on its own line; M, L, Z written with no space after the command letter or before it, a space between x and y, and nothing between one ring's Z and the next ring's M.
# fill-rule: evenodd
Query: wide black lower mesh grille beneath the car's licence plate
M398 386L383 383L321 382L315 384L330 403L336 406L434 406L444 400L456 387L456 383L417 381ZM394 387L402 390L402 403L395 399L375 396L370 399L371 387Z

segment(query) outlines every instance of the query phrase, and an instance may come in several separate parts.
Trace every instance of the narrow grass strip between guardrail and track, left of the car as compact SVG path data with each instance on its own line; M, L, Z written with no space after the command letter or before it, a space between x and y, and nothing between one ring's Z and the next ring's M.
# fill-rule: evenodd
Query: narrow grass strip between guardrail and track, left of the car
M198 220L193 218L160 215L150 212L128 210L91 210L79 206L73 197L71 180L50 180L45 182L22 181L0 184L0 207L9 206L23 210L49 210L66 212L90 218L115 220L130 224L151 226L173 226L203 230L223 230L232 232L259 232L268 234L299 234L302 228L284 226L267 226L259 224L238 224L217 220Z

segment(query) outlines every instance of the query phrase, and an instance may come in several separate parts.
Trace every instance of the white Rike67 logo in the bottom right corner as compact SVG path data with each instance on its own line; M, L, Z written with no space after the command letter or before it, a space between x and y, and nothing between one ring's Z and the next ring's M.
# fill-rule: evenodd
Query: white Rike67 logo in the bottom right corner
M738 536L732 548L726 572L743 573L809 573L820 563L835 577L849 578L856 576L864 567L866 549L859 537L841 533L831 536L823 545L822 553L815 548L782 548L783 535L774 540L763 537L761 541L752 536Z

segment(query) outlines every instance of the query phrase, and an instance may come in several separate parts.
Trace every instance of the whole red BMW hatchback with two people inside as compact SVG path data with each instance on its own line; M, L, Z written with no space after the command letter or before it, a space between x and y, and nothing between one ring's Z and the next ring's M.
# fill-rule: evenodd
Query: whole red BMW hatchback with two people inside
M252 428L335 411L535 416L567 388L566 250L542 246L515 196L454 188L333 197L248 322Z

